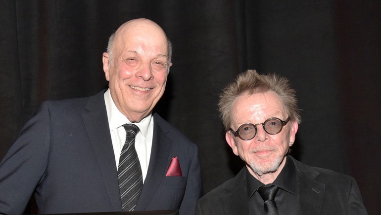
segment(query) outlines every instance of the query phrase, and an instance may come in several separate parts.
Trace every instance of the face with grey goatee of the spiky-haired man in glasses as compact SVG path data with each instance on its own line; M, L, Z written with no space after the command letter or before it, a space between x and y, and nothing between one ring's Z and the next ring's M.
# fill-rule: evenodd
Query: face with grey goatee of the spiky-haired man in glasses
M272 91L239 96L232 112L231 128L235 131L244 123L257 124L271 117L282 120L288 117L279 96ZM245 161L251 175L258 179L258 176L270 174L275 179L285 165L284 158L295 140L297 128L296 122L289 121L280 133L270 135L262 125L257 125L257 134L251 140L241 140L231 131L226 133L226 140L233 152Z

